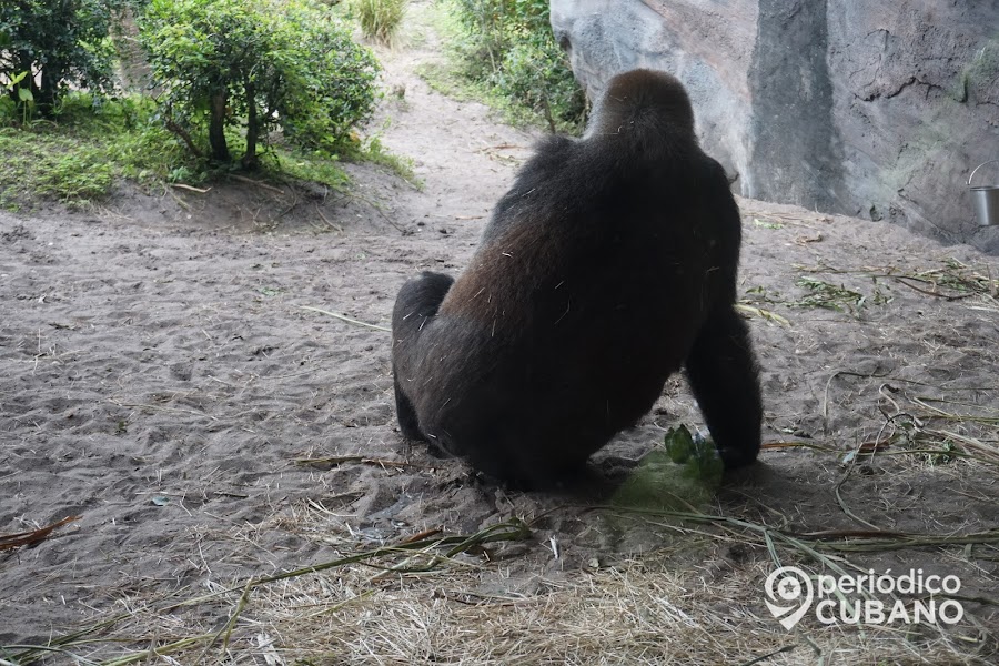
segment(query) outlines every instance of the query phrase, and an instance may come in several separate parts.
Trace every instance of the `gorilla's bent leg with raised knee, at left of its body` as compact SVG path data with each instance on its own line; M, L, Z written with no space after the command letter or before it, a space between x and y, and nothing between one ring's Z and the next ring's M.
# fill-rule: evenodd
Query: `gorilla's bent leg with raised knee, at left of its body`
M395 383L395 411L398 427L407 440L425 440L413 403L402 389L400 373L410 376L416 363L420 334L437 309L454 279L443 273L424 271L406 282L395 299L392 311L392 375Z

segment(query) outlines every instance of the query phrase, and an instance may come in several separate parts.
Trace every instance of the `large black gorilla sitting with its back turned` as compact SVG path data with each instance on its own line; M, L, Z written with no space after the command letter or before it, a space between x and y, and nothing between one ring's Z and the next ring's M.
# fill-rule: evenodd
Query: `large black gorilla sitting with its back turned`
M549 485L634 426L683 366L726 468L753 463L763 407L734 309L740 239L679 81L615 77L582 139L537 145L456 281L427 271L400 291L402 434Z

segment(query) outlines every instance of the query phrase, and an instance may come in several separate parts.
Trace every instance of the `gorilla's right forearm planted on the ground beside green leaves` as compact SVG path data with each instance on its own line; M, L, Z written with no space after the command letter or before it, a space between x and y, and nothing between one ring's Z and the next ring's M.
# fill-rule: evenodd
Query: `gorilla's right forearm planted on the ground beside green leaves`
M731 305L722 305L700 327L687 356L687 377L725 467L753 463L759 454L763 405L759 370L749 329Z

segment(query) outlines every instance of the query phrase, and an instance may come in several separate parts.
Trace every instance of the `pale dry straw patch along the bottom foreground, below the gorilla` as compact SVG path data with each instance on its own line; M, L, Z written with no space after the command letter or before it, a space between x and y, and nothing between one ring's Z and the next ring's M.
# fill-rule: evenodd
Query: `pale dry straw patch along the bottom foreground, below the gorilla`
M769 618L743 609L757 596L757 574L733 576L720 597L703 583L636 562L576 572L527 593L484 592L497 587L497 575L503 581L495 569L403 577L376 589L365 572L353 569L262 591L244 612L253 618L230 642L228 656L263 656L260 645L266 644L276 663L286 664L698 665L750 663L791 648L767 663L795 664L817 655L811 640L849 664L875 663L872 654L914 664L958 658L942 637L914 644L890 630L775 630ZM162 618L147 623L162 626ZM225 658L221 648L215 654Z

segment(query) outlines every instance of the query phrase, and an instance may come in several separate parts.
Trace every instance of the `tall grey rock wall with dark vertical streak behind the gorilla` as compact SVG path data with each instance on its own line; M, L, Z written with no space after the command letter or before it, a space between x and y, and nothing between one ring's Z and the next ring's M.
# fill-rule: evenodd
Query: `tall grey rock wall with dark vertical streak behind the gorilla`
M648 67L687 85L745 196L999 253L968 174L999 159L999 0L551 0L592 97ZM999 185L999 164L976 184Z

